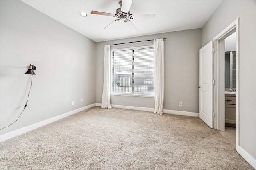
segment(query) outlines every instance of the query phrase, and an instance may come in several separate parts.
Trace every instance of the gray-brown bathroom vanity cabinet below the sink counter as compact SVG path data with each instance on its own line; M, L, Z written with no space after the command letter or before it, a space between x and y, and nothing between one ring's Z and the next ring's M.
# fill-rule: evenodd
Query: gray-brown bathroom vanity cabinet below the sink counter
M225 123L236 125L236 95L225 94Z

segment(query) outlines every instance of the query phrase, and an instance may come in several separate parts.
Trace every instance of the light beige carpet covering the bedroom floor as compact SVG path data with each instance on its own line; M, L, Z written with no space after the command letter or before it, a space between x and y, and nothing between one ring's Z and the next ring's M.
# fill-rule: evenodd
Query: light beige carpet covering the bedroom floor
M253 170L198 117L92 107L0 143L2 170Z

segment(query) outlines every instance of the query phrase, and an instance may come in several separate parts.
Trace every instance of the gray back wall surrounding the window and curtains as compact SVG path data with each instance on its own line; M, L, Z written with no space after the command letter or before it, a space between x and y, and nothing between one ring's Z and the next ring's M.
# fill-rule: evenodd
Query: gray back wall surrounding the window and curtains
M202 29L192 29L96 43L96 103L103 90L103 45L166 38L164 40L164 109L199 112L199 49ZM152 45L153 41L111 46L114 48ZM183 102L183 106L179 106ZM154 98L114 96L111 104L154 108Z

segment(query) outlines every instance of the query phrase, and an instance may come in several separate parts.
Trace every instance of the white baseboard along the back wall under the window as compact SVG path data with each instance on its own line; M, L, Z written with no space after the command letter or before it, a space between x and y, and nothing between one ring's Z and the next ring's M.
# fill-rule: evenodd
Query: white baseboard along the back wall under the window
M101 104L100 103L96 103L96 106L101 106ZM120 108L120 109L132 109L132 110L152 111L152 112L155 111L154 108L148 108L148 107L134 107L134 106L124 106L124 105L116 105L116 104L112 104L111 106L115 107L115 108ZM184 115L184 116L199 117L199 113L188 112L188 111L177 111L177 110L163 109L163 112L164 113L168 113L168 114L174 114L174 115Z

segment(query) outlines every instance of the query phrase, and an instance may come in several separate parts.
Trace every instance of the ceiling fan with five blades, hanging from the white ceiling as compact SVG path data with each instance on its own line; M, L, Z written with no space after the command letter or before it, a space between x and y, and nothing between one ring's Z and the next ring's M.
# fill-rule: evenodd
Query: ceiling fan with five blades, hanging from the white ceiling
M106 13L106 12L98 12L91 11L91 14L98 14L103 16L113 16L118 19L114 20L104 29L111 29L116 23L120 21L124 21L132 29L132 32L137 31L137 28L133 25L130 20L142 19L142 20L153 20L155 18L155 14L130 14L130 7L132 5L132 0L120 0L119 5L121 8L116 9L116 14Z

